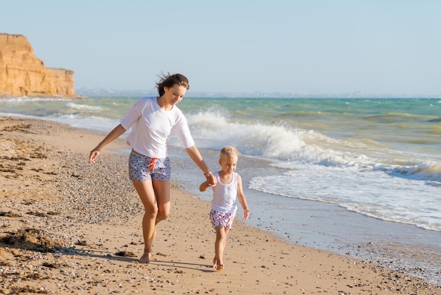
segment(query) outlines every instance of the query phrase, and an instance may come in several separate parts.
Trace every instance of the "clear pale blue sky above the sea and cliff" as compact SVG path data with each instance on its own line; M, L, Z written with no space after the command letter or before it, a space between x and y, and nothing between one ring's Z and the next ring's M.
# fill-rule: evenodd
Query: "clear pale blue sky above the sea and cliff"
M25 35L75 88L441 95L437 0L14 0L0 32Z

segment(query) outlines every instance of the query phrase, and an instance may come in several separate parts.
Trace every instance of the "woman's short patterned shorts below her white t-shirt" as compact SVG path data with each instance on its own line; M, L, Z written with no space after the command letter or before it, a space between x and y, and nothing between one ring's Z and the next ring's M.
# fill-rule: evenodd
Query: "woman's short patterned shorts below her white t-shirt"
M170 159L151 158L131 152L129 157L129 178L131 181L170 181Z

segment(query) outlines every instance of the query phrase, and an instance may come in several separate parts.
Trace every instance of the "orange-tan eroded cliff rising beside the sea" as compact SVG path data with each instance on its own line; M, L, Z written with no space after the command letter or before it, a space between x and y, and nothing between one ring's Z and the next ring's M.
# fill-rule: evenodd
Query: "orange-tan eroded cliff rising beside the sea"
M73 73L46 68L25 36L0 33L0 95L76 97Z

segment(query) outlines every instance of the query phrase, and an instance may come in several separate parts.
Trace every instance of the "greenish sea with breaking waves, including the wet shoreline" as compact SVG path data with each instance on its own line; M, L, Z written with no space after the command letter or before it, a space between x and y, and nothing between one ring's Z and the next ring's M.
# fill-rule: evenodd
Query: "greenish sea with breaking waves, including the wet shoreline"
M139 98L6 97L0 116L104 135ZM239 150L251 227L441 284L440 97L186 96L178 107L212 170L223 146ZM169 143L172 178L210 200L199 168Z

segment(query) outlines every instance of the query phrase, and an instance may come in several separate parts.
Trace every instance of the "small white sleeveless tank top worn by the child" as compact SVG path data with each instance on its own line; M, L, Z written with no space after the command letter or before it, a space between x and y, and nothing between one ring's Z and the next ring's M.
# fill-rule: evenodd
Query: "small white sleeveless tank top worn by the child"
M219 171L215 171L213 175L218 180L213 189L213 200L211 200L211 210L232 214L237 210L237 173L232 173L232 180L228 184L224 184L219 179Z

